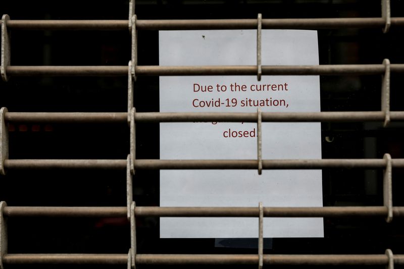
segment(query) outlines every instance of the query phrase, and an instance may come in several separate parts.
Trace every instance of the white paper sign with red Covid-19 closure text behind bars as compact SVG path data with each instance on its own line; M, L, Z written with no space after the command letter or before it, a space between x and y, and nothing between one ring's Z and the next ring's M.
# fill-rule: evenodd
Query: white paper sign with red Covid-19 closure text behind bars
M256 65L257 31L160 31L161 66ZM263 65L318 65L317 31L263 30ZM160 77L160 112L319 112L318 76ZM263 123L263 159L321 158L320 123ZM255 123L161 123L161 159L257 159ZM160 206L322 206L320 170L162 170ZM161 218L161 238L258 237L258 218ZM323 237L265 218L264 237Z

